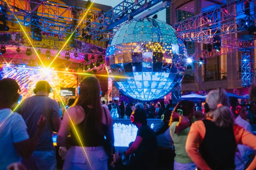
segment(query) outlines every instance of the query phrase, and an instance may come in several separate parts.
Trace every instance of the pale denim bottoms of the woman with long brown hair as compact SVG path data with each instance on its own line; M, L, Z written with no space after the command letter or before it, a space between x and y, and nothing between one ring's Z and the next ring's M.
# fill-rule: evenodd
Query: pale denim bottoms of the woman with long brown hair
M97 147L72 146L69 148L67 152L63 170L69 170L69 169L108 170L108 158L109 157L102 146L97 146Z

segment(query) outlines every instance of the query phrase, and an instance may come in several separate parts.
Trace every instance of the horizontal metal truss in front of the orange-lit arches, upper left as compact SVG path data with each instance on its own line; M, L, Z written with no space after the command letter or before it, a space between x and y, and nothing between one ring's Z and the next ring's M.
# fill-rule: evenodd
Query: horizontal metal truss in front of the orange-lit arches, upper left
M1 0L0 2L8 4L5 14L9 21L19 22L29 28L37 26L42 31L58 34L70 34L77 27L75 35L81 36L83 27L104 14L102 11L91 9L88 11L85 8L45 0ZM101 32L101 35L105 34L109 36L113 32ZM110 38L109 36L108 39Z

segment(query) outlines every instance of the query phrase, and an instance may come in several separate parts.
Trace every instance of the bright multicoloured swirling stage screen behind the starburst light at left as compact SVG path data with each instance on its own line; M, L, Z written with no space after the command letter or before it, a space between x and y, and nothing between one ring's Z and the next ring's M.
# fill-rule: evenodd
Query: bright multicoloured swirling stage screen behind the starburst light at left
M0 80L7 77L17 81L23 97L33 95L33 88L35 88L38 80L49 82L53 89L53 93L50 93L49 97L57 101L60 101L58 95L60 94L60 87L77 87L77 76L75 74L61 73L56 70L47 70L44 68L0 67ZM62 99L65 99L65 97L62 97Z

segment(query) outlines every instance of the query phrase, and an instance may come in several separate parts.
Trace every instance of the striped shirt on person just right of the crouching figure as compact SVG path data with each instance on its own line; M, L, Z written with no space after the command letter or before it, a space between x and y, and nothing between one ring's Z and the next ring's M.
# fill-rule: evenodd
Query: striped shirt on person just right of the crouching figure
M154 132L157 132L159 129L161 129L164 126L164 122L161 123L156 123L153 127ZM157 139L157 145L158 146L162 146L165 148L172 148L173 147L173 140L170 134L170 129L168 127L168 129L160 134L156 136Z

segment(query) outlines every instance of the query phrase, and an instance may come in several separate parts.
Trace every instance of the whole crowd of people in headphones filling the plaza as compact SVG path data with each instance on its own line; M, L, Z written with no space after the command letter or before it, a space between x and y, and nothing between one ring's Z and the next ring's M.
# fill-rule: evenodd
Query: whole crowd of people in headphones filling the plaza
M116 100L106 105L93 76L81 82L78 97L65 109L48 97L50 92L49 83L39 81L35 95L17 105L17 82L0 80L0 170L56 169L53 132L58 132L57 146L63 151L65 170L256 168L256 136L248 105L228 98L223 89L210 91L203 112L188 100L175 107L172 100L167 105L122 101L119 105ZM138 128L137 136L113 160L112 121L125 116ZM161 118L153 129L147 125L151 116Z

